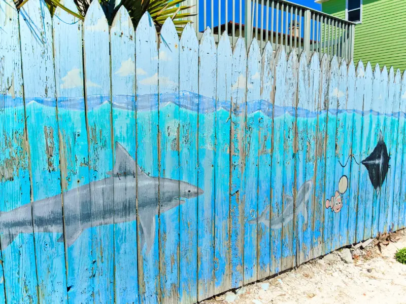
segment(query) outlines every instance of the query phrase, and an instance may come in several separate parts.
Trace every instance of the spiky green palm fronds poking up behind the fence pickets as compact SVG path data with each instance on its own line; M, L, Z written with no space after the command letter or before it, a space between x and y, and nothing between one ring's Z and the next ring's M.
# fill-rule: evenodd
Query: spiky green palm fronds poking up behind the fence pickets
M17 9L20 9L27 1L29 0L15 0L14 3ZM78 8L79 14L63 6L63 1L45 0L51 15L53 15L57 7L60 7L67 13L84 20L84 16L90 6L91 0L74 0L74 2ZM98 2L103 8L109 24L111 24L120 5L115 7L114 0L98 0ZM187 18L196 15L190 13L190 10L194 6L181 5L184 2L185 0L122 0L121 5L127 9L134 27L140 22L144 13L148 11L158 32L168 17L174 21L177 30L180 32L182 31L183 26L188 22L191 22L190 20L187 20Z

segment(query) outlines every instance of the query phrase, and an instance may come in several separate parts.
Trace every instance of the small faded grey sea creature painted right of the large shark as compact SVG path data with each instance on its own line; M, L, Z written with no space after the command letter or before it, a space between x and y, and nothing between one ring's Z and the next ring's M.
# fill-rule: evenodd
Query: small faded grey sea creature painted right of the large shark
M303 182L303 184L300 186L299 191L297 192L297 197L296 197L296 212L297 214L302 214L304 217L303 224L306 225L308 222L308 211L307 211L307 205L306 202L310 198L310 193L312 189L312 181L308 180ZM277 217L273 217L270 220L270 228L271 229L280 229L282 225L285 225L289 221L293 219L293 197L289 195L283 195L284 201L285 201L285 206L282 214L280 214ZM269 207L268 205L262 213L258 216L258 218L253 218L248 221L249 224L256 224L257 219L258 223L263 223L265 226L269 227L269 217L267 218L267 214L269 212Z

